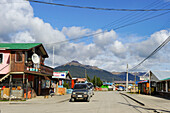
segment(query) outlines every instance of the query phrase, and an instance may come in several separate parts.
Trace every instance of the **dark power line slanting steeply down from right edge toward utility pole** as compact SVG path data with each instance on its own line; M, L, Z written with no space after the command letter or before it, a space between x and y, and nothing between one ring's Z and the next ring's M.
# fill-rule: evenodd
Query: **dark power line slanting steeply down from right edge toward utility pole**
M154 54L156 54L160 49L162 49L162 47L164 47L168 42L170 41L170 36L160 45L158 46L149 56L147 56L144 60L142 60L138 65L134 66L132 69L130 69L131 71L134 71L135 69L137 69L142 63L144 63L147 59L149 59L151 56L153 56Z

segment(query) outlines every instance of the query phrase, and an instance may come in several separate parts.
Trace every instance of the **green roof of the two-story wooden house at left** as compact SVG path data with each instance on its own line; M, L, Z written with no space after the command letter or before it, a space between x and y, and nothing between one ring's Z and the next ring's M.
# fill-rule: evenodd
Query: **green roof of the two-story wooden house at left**
M0 43L0 48L4 49L31 49L41 43Z

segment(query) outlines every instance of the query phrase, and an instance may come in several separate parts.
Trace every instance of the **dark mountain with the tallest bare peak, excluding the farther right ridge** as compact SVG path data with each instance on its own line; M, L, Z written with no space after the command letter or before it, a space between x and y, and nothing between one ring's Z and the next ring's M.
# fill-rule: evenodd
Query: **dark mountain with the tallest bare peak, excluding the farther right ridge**
M110 81L113 80L119 81L121 78L117 75L113 75L112 73L99 69L96 66L83 65L78 61L72 61L67 64L61 65L59 67L54 68L54 71L66 71L68 70L73 78L84 78L85 70L87 75L92 79L94 76L100 77L102 81Z

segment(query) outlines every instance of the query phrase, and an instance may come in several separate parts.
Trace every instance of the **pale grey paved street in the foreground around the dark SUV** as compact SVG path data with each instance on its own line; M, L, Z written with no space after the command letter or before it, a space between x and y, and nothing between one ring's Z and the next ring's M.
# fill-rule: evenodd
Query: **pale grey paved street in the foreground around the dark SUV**
M69 102L70 95L26 102L0 103L1 113L148 113L153 110L134 102L117 91L95 92L90 102Z

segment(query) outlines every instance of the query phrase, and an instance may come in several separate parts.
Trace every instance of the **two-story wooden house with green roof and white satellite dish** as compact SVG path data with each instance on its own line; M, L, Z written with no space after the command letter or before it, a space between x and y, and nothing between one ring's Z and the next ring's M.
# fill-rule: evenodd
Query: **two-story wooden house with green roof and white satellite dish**
M6 96L48 93L53 68L44 65L46 58L41 43L0 43L0 88L10 90Z

